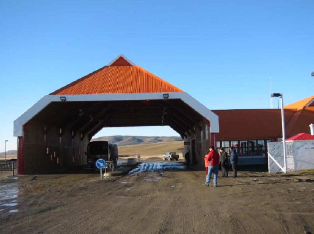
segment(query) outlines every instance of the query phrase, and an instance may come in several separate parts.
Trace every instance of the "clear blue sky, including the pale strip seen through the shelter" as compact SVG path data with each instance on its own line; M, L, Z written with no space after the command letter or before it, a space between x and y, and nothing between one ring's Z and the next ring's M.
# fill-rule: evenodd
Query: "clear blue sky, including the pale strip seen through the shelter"
M123 53L208 109L269 108L313 95L314 1L0 0L0 152L44 95ZM277 102L274 103L277 107ZM111 128L99 135L177 135Z

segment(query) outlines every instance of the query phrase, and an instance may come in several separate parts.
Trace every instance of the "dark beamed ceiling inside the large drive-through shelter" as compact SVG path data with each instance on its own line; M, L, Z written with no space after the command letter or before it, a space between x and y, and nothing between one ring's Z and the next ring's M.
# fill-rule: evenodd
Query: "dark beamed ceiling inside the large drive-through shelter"
M33 120L91 139L104 127L169 125L183 138L203 116L181 99L51 102ZM190 132L190 129L192 132ZM92 130L92 131L90 131Z

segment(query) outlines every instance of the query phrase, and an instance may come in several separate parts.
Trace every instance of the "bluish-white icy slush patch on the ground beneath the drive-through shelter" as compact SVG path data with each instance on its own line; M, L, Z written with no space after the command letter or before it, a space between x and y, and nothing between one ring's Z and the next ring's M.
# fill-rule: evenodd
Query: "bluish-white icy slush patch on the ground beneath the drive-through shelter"
M128 175L142 172L180 171L185 169L186 166L181 163L150 162L139 164L138 167L131 170Z

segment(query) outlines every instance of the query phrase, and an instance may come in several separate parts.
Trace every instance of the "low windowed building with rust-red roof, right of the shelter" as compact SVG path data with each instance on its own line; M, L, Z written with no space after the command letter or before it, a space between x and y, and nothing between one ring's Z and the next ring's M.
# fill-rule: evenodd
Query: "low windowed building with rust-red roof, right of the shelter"
M267 142L282 137L280 109L213 110L219 116L217 148L239 154L239 164L267 164ZM284 107L286 137L310 133L314 123L314 96Z

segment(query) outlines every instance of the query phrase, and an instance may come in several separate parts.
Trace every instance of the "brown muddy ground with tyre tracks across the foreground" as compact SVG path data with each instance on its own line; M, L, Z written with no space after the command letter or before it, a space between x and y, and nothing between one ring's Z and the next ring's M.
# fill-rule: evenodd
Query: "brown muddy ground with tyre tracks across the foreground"
M177 170L100 180L83 168L2 181L1 233L314 233L313 171L246 167L207 187L204 171Z

